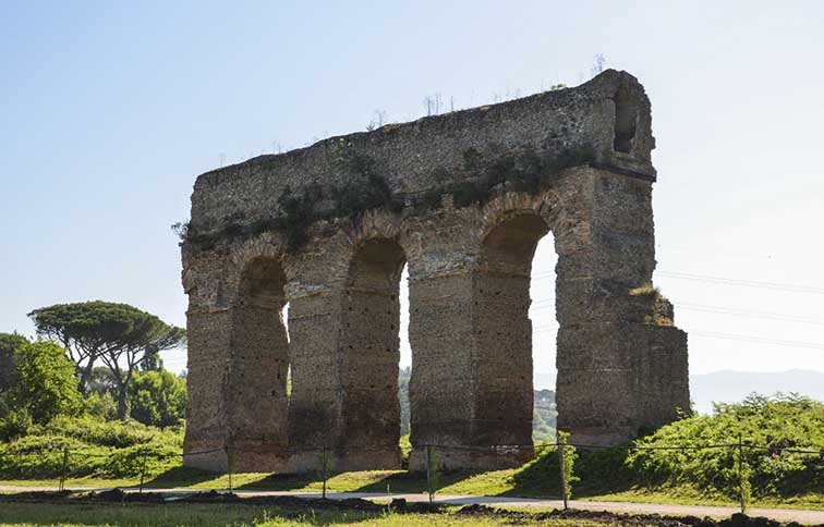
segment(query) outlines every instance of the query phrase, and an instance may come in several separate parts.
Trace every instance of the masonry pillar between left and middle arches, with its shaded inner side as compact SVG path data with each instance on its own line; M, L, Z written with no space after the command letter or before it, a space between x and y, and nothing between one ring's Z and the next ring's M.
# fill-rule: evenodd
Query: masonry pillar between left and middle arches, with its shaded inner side
M301 265L290 299L291 469L317 469L323 452L335 470L400 468L403 252L388 238L338 247L326 265ZM308 287L316 268L326 281Z

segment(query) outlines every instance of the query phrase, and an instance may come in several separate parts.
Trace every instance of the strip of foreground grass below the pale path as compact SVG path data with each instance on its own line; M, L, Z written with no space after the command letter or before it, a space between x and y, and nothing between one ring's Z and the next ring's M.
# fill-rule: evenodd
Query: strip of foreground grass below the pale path
M603 523L559 518L523 517L513 523L508 517L465 516L455 513L392 514L339 511L284 511L249 505L111 505L3 503L0 527L301 527L353 525L376 527L424 527L429 525L455 527L496 527L535 525L543 527L597 527ZM611 523L613 526L621 524ZM638 524L633 524L638 527Z

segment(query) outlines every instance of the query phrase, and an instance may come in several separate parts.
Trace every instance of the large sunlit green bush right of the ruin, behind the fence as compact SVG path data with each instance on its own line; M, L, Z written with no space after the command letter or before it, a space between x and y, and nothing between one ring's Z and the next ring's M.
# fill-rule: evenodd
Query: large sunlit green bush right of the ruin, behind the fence
M737 443L753 495L812 491L824 483L824 457L780 449L819 451L824 444L824 404L798 395L751 395L739 404L718 404L713 416L695 416L661 428L638 446L683 445L692 449ZM750 445L765 446L752 448ZM628 466L647 485L689 483L737 498L736 448L642 450Z

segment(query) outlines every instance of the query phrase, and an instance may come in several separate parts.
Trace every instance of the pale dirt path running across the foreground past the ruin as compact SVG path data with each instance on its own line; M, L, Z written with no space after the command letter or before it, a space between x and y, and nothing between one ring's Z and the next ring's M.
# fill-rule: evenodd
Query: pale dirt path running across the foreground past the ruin
M48 491L57 490L53 487L13 487L0 486L0 492L27 492L27 491ZM89 488L71 488L70 490L96 490ZM136 489L124 489L135 491ZM191 494L199 492L193 489L147 489L150 492L159 492L169 495ZM238 495L246 497L275 497L292 495L298 498L320 498L317 492L289 492L289 491L265 491L265 490L238 490ZM390 499L404 499L408 502L428 501L426 494L385 494L369 492L328 492L327 498L334 500L344 500L347 498L362 498L366 500L388 501ZM507 507L535 507L535 508L560 508L562 503L558 500L542 500L535 498L502 498L502 497L478 497L478 495L449 495L436 494L435 502L449 505L487 505L487 506L507 506ZM675 505L663 503L627 503L627 502L603 502L603 501L578 501L569 503L570 507L581 511L606 511L610 513L637 513L637 514L665 514L672 516L711 516L711 517L729 517L738 512L735 507L705 506L705 505ZM800 508L751 508L748 513L750 516L763 516L778 522L798 522L808 525L824 525L824 511L807 511Z

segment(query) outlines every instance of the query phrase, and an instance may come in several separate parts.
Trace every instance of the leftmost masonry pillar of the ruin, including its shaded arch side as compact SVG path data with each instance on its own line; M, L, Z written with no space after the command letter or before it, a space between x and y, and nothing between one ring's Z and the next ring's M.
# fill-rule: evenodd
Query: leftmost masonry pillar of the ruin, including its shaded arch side
M222 471L231 456L237 471L282 470L289 361L282 270L276 260L255 260L235 281L225 257L206 252L187 259L186 271L195 278L184 278L190 293L184 464ZM198 269L198 261L209 269ZM238 289L225 294L230 283Z

